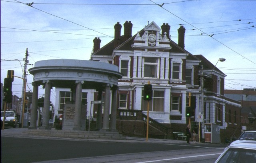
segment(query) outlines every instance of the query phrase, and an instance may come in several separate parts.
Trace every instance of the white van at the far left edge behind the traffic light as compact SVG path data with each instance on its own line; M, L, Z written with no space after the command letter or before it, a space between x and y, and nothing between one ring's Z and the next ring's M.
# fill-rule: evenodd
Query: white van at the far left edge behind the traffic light
M3 126L12 126L13 128L16 128L17 126L17 116L14 111L6 111L5 112L5 118L4 118L4 112L1 111L1 128Z

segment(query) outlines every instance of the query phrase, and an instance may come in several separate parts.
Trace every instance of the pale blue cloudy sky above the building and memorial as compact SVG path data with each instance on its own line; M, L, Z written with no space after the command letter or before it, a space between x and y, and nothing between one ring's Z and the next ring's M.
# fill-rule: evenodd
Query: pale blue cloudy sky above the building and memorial
M256 88L255 8L256 0L1 0L1 83L8 70L22 77L26 48L27 71L46 59L89 60L92 40L100 37L100 47L106 45L117 22L123 35L124 22L131 21L135 35L154 21L159 27L168 23L176 43L184 26L185 49L226 74L225 89ZM26 90L32 92L33 75L27 74ZM22 83L14 78L13 95L21 97ZM55 97L53 88L53 103Z

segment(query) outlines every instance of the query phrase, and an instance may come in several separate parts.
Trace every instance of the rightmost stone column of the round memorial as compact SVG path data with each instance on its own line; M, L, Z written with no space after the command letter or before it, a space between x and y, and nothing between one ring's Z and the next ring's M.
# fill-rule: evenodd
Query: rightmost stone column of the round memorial
M110 116L110 130L116 130L116 100L117 100L117 90L113 88L112 90L112 104L111 104L111 116Z

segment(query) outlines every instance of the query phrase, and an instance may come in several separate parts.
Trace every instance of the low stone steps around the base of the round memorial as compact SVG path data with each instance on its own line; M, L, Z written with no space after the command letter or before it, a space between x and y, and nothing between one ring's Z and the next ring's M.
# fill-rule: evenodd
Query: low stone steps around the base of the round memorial
M26 130L24 133L35 136L49 136L49 137L65 137L65 138L79 138L79 139L113 139L126 140L118 132L113 131L80 131L80 130Z

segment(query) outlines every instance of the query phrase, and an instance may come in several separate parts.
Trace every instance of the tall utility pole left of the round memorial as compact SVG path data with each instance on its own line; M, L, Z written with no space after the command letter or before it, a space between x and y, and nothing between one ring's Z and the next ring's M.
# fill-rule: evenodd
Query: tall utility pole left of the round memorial
M23 114L25 108L25 96L26 96L26 75L27 75L27 64L28 64L28 48L26 49L26 57L23 59L24 63L24 70L23 70L23 86L22 86L22 95L21 95L21 105L20 105L20 124L23 127Z

